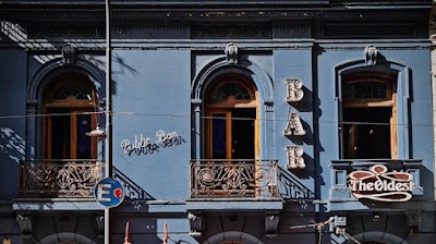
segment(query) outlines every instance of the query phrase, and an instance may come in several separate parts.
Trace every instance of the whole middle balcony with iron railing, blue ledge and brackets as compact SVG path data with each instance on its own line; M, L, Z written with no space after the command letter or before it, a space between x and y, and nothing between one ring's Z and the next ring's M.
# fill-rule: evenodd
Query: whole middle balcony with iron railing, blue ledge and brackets
M265 233L276 235L278 212L283 209L279 184L277 160L191 160L191 198L186 200L191 235L201 235L203 221L211 212L263 216Z

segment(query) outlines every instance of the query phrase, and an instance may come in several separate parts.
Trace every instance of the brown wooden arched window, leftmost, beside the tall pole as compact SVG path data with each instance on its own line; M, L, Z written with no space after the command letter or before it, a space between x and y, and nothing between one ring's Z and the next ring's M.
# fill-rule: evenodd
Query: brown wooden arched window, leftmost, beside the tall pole
M87 75L56 76L43 94L43 156L47 159L95 159L97 96Z

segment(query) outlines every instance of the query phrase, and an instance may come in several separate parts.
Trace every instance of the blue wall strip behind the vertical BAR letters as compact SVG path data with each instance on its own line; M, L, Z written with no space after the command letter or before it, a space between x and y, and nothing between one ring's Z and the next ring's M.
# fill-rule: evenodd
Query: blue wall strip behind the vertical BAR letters
M313 74L312 44L295 50L274 51L274 96L275 96L275 156L279 160L282 173L295 174L311 192L315 192L314 129L313 129ZM304 97L301 101L287 102L287 80L300 80L303 83ZM304 136L284 136L291 113L296 113L306 134ZM304 150L305 169L287 169L287 146L300 146Z

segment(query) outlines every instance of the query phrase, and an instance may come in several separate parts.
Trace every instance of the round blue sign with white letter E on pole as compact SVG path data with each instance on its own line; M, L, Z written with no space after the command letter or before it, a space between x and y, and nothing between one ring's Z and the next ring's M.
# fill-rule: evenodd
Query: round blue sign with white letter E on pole
M105 178L95 185L94 196L105 207L117 207L124 199L124 187L116 179Z

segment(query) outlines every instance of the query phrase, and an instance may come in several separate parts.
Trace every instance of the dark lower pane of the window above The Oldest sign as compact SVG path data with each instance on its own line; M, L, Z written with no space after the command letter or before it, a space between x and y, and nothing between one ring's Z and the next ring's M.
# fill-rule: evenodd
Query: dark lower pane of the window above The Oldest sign
M344 158L391 158L390 115L390 108L344 109Z

